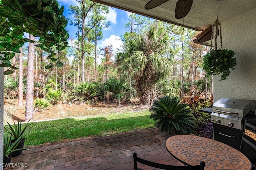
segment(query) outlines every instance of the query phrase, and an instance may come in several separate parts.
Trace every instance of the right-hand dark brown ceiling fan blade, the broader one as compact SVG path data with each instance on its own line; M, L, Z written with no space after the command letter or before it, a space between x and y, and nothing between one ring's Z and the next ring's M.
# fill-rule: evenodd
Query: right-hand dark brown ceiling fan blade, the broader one
M178 0L175 7L175 18L181 19L188 15L193 4L192 0Z

